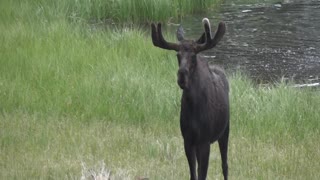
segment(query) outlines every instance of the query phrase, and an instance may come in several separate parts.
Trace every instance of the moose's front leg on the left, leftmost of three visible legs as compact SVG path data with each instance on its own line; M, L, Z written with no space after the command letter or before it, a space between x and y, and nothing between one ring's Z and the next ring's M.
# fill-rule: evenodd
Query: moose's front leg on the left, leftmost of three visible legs
M190 180L197 180L195 147L188 142L184 142L184 150L189 163Z

